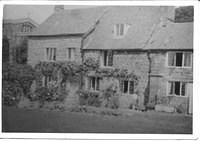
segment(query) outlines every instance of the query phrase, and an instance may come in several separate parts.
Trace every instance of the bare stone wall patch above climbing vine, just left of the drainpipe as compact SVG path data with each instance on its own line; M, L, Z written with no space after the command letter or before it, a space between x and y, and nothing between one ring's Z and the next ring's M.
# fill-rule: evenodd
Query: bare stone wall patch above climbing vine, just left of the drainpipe
M114 53L113 66L120 69L127 69L129 72L133 71L139 77L135 92L138 94L145 93L149 70L149 62L145 52L117 51Z

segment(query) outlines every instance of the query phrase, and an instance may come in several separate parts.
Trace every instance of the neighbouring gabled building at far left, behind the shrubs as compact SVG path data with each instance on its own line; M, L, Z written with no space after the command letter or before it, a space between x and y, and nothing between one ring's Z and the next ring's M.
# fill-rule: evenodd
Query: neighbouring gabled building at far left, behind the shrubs
M20 56L17 54L17 48L26 42L26 34L37 26L31 18L3 20L3 62L17 62L17 56Z

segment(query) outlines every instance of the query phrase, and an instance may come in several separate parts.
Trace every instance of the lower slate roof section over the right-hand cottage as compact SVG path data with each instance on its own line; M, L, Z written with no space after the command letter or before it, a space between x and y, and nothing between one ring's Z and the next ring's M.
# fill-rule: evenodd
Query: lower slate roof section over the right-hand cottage
M168 22L155 32L146 49L193 49L193 22Z

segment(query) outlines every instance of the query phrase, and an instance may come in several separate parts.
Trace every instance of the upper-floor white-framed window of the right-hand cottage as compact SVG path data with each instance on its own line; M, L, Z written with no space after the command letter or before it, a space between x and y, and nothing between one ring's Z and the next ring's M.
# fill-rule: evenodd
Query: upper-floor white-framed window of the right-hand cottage
M191 67L192 53L191 52L169 52L168 66Z

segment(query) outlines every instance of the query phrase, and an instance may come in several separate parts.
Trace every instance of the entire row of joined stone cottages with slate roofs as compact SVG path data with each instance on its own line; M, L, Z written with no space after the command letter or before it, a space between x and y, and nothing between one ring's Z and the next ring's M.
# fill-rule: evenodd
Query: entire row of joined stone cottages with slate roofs
M116 86L121 108L129 108L137 96L139 105L163 103L191 113L193 22L175 15L175 7L55 7L30 35L28 63L93 58L100 69L126 69L138 83L91 71L84 76L85 89Z

